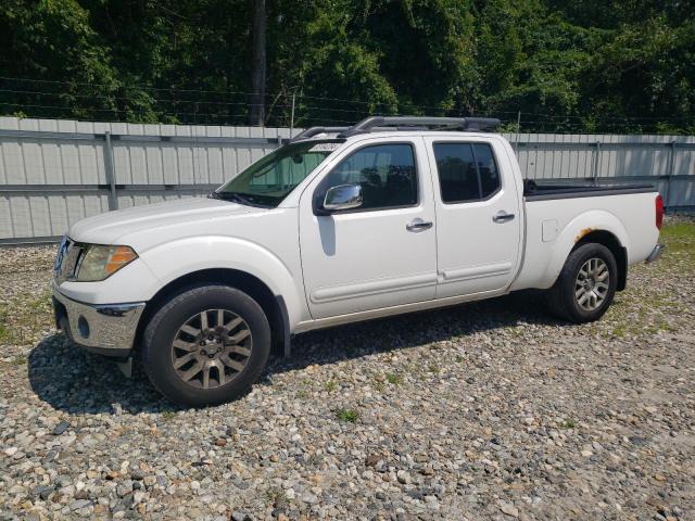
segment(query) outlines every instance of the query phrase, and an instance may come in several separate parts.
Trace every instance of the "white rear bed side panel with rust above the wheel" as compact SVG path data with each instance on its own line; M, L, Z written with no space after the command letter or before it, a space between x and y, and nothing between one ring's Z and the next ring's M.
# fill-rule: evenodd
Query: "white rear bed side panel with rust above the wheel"
M546 289L567 256L594 230L611 232L628 251L628 264L645 260L659 238L657 192L525 201L523 264L510 290Z

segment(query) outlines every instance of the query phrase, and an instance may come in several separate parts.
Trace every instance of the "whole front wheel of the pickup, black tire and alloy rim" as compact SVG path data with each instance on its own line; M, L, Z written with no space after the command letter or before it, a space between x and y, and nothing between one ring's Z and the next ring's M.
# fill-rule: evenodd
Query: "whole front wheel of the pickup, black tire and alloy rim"
M142 360L152 384L170 401L194 407L239 397L261 376L269 353L263 308L226 285L179 293L143 334Z

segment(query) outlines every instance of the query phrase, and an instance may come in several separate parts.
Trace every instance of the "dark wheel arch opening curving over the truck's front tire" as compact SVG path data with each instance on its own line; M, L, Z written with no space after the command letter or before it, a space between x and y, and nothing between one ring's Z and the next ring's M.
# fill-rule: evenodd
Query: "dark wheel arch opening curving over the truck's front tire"
M236 288L256 301L270 325L273 347L280 348L289 355L290 326L285 300L281 295L275 295L273 290L256 276L232 268L200 269L180 276L161 288L144 306L136 331L135 348L139 348L144 329L166 302L190 288L205 283L223 283Z

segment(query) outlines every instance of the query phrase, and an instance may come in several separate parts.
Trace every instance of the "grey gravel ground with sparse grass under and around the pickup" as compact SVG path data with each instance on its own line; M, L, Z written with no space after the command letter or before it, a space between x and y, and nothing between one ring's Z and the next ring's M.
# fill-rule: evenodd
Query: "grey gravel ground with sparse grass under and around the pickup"
M185 410L51 323L0 255L0 519L695 519L695 224L599 322L536 295L307 333Z

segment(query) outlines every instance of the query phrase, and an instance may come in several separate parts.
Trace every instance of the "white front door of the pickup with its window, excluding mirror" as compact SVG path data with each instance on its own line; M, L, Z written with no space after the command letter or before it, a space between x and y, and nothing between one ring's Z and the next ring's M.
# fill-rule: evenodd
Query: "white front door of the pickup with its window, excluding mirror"
M362 140L300 201L304 288L315 319L434 297L437 226L421 138ZM326 191L362 187L362 206L320 214Z

